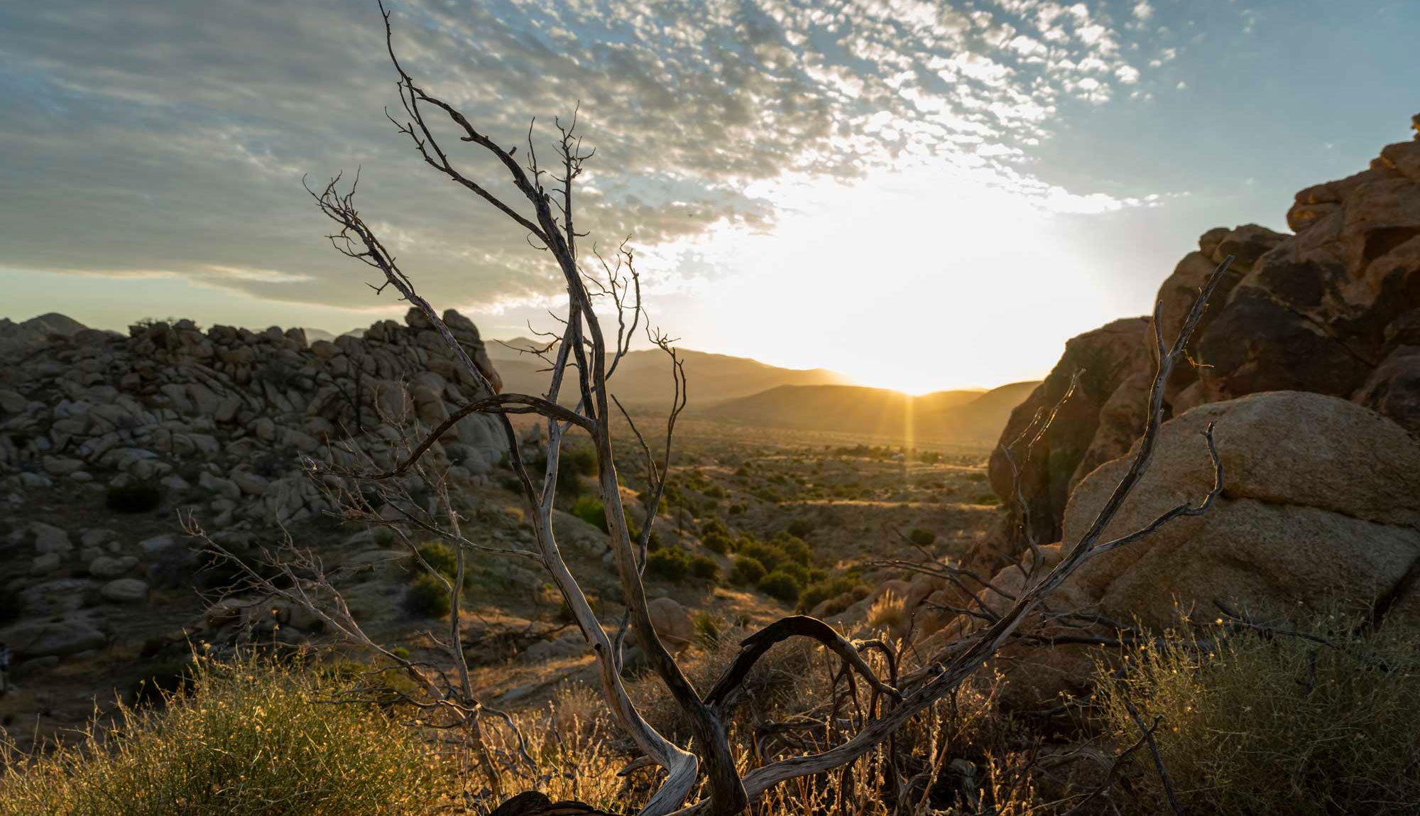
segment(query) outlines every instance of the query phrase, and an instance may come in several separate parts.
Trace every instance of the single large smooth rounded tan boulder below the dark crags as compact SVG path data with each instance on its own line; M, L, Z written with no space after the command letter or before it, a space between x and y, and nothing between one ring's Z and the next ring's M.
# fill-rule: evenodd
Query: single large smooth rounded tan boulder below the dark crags
M1420 586L1404 590L1403 581L1420 566L1420 441L1335 397L1254 394L1166 422L1149 472L1105 540L1207 495L1208 422L1223 496L1203 516L1082 564L1071 583L1085 603L1154 627L1173 623L1176 603L1216 614L1214 600L1264 617L1333 603L1420 611ZM1129 458L1119 458L1081 482L1065 510L1064 547L1075 544L1127 468ZM1404 597L1392 597L1397 590Z

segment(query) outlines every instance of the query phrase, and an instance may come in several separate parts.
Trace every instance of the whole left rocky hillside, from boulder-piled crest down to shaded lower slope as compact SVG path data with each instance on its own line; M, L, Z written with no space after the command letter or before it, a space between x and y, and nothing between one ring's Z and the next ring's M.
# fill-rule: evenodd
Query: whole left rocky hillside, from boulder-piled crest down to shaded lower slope
M496 382L474 326L444 321ZM179 515L234 546L304 530L334 509L307 459L354 463L355 442L389 462L393 425L435 425L476 394L413 310L310 344L190 321L125 337L62 316L6 321L0 340L0 643L20 661L106 643L129 623L111 613L151 591L190 606L199 564ZM433 455L479 483L501 452L491 419L473 417Z

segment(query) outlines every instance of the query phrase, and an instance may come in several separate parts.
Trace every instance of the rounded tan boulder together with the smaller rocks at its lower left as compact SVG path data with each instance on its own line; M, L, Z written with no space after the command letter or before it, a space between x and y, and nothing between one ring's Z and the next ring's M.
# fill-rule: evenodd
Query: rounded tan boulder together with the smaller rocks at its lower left
M1268 391L1210 402L1160 428L1145 476L1105 529L1103 542L1143 529L1166 510L1196 505L1214 485L1204 429L1214 424L1224 490L1200 516L1082 563L1025 628L1038 641L1008 644L997 668L1008 705L1039 708L1089 688L1113 621L1162 631L1225 613L1254 620L1340 613L1370 626L1420 627L1420 439L1348 399ZM1062 540L1041 547L1059 563L1098 517L1132 453L1105 462L1074 489ZM956 608L1005 613L1025 589L1030 550ZM909 607L912 608L912 607ZM1076 617L1061 618L1054 613ZM930 620L932 604L917 607ZM1099 621L1099 623L1088 623ZM1108 623L1106 623L1108 621ZM922 654L940 654L980 628L958 616L919 628ZM936 630L936 631L934 631ZM1083 637L1082 637L1083 635ZM1049 638L1061 643L1045 645Z

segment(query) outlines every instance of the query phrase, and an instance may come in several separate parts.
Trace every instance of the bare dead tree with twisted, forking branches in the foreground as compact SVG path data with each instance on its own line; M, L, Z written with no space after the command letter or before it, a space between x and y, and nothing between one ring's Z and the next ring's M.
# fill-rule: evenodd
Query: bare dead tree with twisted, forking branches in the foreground
M939 655L926 670L900 678L897 687L895 687L876 677L869 662L863 660L862 653L868 644L853 644L841 637L832 627L815 618L802 616L790 617L747 638L743 644L743 654L734 661L726 675L709 692L701 694L692 685L674 657L662 644L652 627L648 611L642 570L645 567L648 540L655 523L655 512L648 512L646 523L642 526L639 535L633 537L632 530L626 525L621 492L618 489L616 461L612 448L613 409L621 411L628 422L630 417L621 409L621 405L608 390L608 382L645 316L640 303L639 277L632 263L633 256L625 245L616 264L605 262L599 264L601 273L588 272L581 263L578 240L585 233L577 229L574 192L577 178L582 172L584 163L591 158L591 152L584 152L581 148L575 115L565 127L561 122L557 124L557 136L554 139L555 166L545 169L538 163L535 134L531 127L527 134L527 151L520 162L514 158L515 146L498 144L456 107L432 94L405 70L395 53L390 13L383 4L381 4L381 11L385 20L389 58L398 74L403 111L403 115L398 118L390 117L390 121L400 134L409 138L413 148L429 166L501 212L528 236L528 242L534 247L551 256L561 273L568 300L567 313L561 321L561 333L551 337L547 345L538 350L551 370L548 391L540 395L498 394L483 371L479 370L460 347L435 308L419 296L410 276L400 269L395 256L359 215L355 208L355 186L351 185L349 189L341 190L339 178L337 178L324 188L311 189L310 192L321 212L338 226L338 232L331 236L335 247L344 254L378 270L381 279L376 286L378 290L393 287L403 300L417 307L443 335L443 340L457 355L464 370L483 390L479 398L463 405L449 421L427 434L423 441L413 444L409 448L408 456L393 468L382 472L351 473L351 476L375 482L395 479L417 468L422 456L427 453L439 436L453 428L462 418L474 412L490 414L498 418L508 445L510 466L531 510L530 520L535 540L535 549L531 552L517 550L506 554L530 557L548 571L596 658L601 692L615 721L650 762L666 769L667 776L642 806L642 815L710 813L728 816L744 810L750 802L787 779L821 775L851 765L866 752L886 743L910 719L926 711L936 701L951 694L973 672L978 671L983 662L991 658L1003 644L1008 643L1017 634L1022 623L1039 608L1041 603L1081 563L1099 553L1139 540L1174 517L1206 512L1221 492L1221 463L1213 446L1210 428L1206 435L1207 449L1217 472L1217 486L1213 492L1197 505L1181 505L1169 510L1140 530L1113 540L1102 540L1106 526L1149 466L1159 425L1163 418L1163 384L1179 360L1186 358L1184 347L1203 316L1208 296L1221 280L1227 262L1208 279L1191 313L1180 328L1179 337L1172 345L1167 345L1160 334L1162 328L1159 328L1156 310L1154 334L1159 368L1150 392L1146 431L1135 453L1132 466L1120 479L1113 495L1095 519L1095 523L1091 525L1081 540L1064 556L1059 564L1049 571L1038 570L1038 574L1031 574L1024 591L1014 598L1012 606L1001 614L993 613L990 626L953 644L951 648ZM443 136L436 132L436 127L452 128L457 141L467 142L486 156L493 158L501 166L501 172L507 176L507 181L517 190L517 198L506 199L491 192L484 186L484 182L464 173L459 161L446 148ZM613 337L608 330L609 327L604 326L602 317L595 310L598 301L605 303L608 300L616 314ZM674 388L665 429L665 465L657 465L657 458L652 453L650 446L645 442L640 432L635 429L635 424L632 424L646 458L649 479L648 508L653 509L659 505L665 493L676 417L686 404L686 378L682 363L672 347L673 341L659 333L650 334L650 337L655 345L670 355ZM571 395L564 397L564 391L569 391ZM568 408L567 404L574 404L574 407ZM532 478L527 462L523 459L520 439L508 418L511 414L534 414L545 421L547 465L541 482ZM615 570L621 584L622 603L626 608L623 626L613 634L608 634L604 624L594 614L578 579L562 559L552 530L552 502L557 489L558 461L564 441L571 434L585 434L596 452L596 481L606 513L606 527L615 554ZM456 517L457 513L450 508L449 520L456 522ZM419 519L419 523L429 525L423 519ZM423 529L437 530L449 540L459 543L459 573L462 576L464 550L474 549L476 544L459 535L456 526L449 529L447 526L433 525ZM1035 563L1039 564L1039 559ZM454 597L457 596L457 586L452 586L452 593ZM628 695L621 677L621 644L626 624L629 624L638 641L643 645L649 667L686 715L693 735L694 751L677 745L657 732L642 716L642 712L638 711ZM454 614L454 627L457 627L457 613ZM454 628L452 637L454 644L457 644L457 628ZM797 637L812 638L825 645L828 651L843 661L845 677L852 677L852 674L861 675L868 687L873 689L875 699L890 699L892 704L883 705L880 712L875 709L876 714L866 719L866 724L853 736L838 745L816 753L770 762L768 765L741 773L736 766L727 738L727 721L736 689L760 657L768 653L777 643ZM393 655L388 657L393 658ZM457 657L462 660L462 654ZM687 805L687 798L701 779L707 783L709 795Z

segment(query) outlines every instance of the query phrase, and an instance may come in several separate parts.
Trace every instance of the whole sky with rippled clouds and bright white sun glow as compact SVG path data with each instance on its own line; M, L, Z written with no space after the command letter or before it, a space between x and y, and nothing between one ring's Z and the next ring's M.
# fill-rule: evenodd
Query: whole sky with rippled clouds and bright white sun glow
M1420 109L1413 0L390 7L406 70L498 144L535 121L551 155L578 109L582 246L629 236L680 345L910 392L1044 375L1200 233L1285 229ZM436 307L551 327L547 253L423 165L398 107L373 0L0 4L0 317L402 316L301 188L359 171Z

